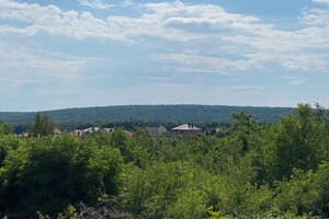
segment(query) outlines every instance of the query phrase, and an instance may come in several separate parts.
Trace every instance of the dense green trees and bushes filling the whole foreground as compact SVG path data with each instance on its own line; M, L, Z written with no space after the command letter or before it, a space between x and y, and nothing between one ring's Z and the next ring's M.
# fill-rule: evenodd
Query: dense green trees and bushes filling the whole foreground
M326 111L307 104L269 125L236 112L222 135L2 132L0 212L76 218L82 201L124 218L328 218L328 137Z

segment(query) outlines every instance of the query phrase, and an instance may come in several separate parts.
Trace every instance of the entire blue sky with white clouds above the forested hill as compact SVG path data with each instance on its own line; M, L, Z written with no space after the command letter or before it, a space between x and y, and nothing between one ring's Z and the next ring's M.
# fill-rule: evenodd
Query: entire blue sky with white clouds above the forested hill
M329 106L329 0L0 0L0 112Z

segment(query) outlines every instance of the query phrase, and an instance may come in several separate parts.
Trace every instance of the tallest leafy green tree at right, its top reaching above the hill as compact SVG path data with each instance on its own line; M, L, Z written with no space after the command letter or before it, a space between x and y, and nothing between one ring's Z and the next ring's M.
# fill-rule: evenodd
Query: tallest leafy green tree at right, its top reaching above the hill
M262 135L262 163L269 182L290 177L294 168L316 170L318 157L328 154L324 130L309 104L299 104L293 115L269 126Z

